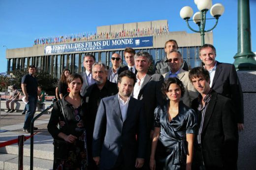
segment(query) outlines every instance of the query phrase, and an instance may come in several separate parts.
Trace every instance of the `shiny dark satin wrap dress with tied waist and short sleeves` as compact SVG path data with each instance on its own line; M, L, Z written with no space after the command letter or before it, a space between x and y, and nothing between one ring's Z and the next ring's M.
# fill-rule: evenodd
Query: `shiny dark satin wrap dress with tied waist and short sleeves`
M188 153L186 134L195 133L196 114L180 101L178 115L169 121L167 108L168 104L165 104L155 109L155 127L160 127L156 170L185 170Z

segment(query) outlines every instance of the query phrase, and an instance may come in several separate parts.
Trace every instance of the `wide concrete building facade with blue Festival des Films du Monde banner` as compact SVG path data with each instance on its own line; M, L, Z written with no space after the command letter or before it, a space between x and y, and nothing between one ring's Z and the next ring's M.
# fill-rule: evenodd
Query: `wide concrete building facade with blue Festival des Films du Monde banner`
M83 57L93 54L96 61L111 67L111 56L119 53L126 65L124 49L149 52L154 64L165 57L164 44L169 39L177 41L183 59L191 68L200 66L199 33L169 32L167 20L99 26L93 35L79 34L73 37L37 39L33 47L7 49L7 72L35 65L37 69L59 78L63 69L71 73L84 72ZM213 33L205 34L205 43L213 44Z

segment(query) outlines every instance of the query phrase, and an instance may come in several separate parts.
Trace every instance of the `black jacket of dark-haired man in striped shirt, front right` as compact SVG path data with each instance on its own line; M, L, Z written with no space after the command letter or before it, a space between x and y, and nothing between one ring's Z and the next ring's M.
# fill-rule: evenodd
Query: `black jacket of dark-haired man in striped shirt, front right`
M198 111L198 105L199 101L196 98L192 101L192 109L197 112L199 118L201 113ZM198 124L200 123L199 118ZM238 131L231 100L213 90L205 111L201 132L201 147L205 165L217 169L235 170L237 144ZM197 160L194 157L193 162L196 163Z

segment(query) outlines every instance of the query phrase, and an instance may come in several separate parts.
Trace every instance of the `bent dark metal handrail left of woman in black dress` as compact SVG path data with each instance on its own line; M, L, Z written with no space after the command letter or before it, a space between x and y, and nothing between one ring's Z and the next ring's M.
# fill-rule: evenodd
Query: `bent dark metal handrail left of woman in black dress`
M53 101L54 102L54 101ZM39 117L41 117L45 112L47 112L49 109L51 109L53 107L53 103L48 106L46 109L44 109L41 113L39 113L36 117L34 117L31 121L31 125L30 125L30 134L31 136L31 140L30 140L30 170L33 170L33 151L34 151L34 121L37 120Z

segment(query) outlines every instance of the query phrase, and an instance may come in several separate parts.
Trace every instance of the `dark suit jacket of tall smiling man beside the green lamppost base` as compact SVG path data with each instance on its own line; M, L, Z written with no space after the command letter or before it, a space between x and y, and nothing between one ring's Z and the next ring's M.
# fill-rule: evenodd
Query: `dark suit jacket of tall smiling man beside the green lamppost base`
M244 123L244 101L241 84L233 64L217 61L212 89L232 100L238 123Z

